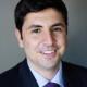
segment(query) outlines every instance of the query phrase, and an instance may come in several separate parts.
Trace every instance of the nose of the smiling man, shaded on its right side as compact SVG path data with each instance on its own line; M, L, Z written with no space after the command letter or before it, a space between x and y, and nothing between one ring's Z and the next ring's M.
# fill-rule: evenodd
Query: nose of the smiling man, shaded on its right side
M46 33L44 37L45 37L45 44L47 46L52 46L53 45L54 39L53 39L53 35L51 33Z

